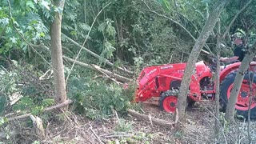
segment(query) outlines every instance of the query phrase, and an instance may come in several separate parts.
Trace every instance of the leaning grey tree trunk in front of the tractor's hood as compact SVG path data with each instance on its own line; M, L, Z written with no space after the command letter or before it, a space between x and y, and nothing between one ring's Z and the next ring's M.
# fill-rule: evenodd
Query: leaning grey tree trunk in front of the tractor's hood
M182 78L180 94L178 94L177 108L178 108L180 121L185 120L186 98L187 98L187 92L189 90L188 83L190 83L190 78L193 74L195 62L197 61L198 56L202 50L202 47L205 45L206 40L210 35L210 32L214 29L215 23L218 21L218 17L221 14L222 9L226 5L226 2L228 2L228 0L219 0L215 4L210 14L210 17L206 20L206 24L203 27L201 34L199 35L199 38L194 43L193 49L191 50L190 56L186 63L186 70Z

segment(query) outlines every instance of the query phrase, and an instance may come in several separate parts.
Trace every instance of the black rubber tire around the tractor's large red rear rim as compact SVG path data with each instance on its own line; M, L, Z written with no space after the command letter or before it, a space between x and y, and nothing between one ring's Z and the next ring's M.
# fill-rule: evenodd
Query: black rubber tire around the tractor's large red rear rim
M251 75L251 74L250 74ZM231 73L226 76L226 78L222 81L220 86L220 106L222 107L222 111L226 111L226 106L228 102L227 91L230 85L234 83L234 78L236 73ZM245 74L244 80L249 80L249 74ZM254 74L254 83L256 83L256 74ZM244 118L248 118L248 110L238 110L236 109L236 114L241 115ZM250 118L256 118L256 106L250 109Z

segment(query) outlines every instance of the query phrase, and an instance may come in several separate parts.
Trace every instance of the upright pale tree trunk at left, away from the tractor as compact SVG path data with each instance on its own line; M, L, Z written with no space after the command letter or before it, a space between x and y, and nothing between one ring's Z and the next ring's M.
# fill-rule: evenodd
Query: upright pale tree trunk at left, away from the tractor
M54 0L54 6L63 11L65 0ZM62 103L66 101L65 75L62 60L61 40L62 12L55 12L54 22L50 27L51 61L54 69L54 92L55 101Z

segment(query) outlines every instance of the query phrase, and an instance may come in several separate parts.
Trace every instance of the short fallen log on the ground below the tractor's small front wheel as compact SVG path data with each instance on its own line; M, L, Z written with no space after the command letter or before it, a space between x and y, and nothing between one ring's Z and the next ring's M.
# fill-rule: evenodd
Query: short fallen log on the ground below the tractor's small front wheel
M144 120L144 121L146 121L146 120L148 120L149 119L149 116L148 115L145 115L145 114L140 114L140 113L138 113L137 111L135 111L135 110L127 110L128 111L128 113L130 114L130 115L132 115L132 116L134 116L134 117L136 117L136 118L139 118L139 119L141 119L141 120ZM159 119L159 118L150 118L151 119L151 121L154 123L154 124L156 124L156 125L158 125L158 126L171 126L171 127L173 127L174 125L175 125L175 122L168 122L168 121L165 121L165 120L162 120L162 119Z

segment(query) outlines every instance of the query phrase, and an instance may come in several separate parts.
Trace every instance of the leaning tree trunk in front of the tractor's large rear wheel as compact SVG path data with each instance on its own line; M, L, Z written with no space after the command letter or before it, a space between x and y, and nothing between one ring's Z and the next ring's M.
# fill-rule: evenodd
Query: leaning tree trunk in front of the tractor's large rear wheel
M233 89L231 90L230 99L227 102L227 106L226 106L225 119L227 121L230 121L230 122L234 121L235 103L237 102L237 99L238 99L238 94L240 92L244 74L246 73L246 70L249 68L250 62L254 58L254 55L256 52L255 49L256 49L256 42L254 42L254 45L249 48L249 51L246 54L246 57L243 58L241 62L241 66L238 69L238 73L234 78L234 86L233 86Z

